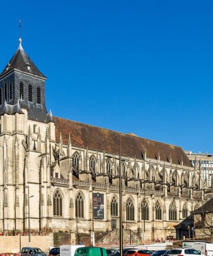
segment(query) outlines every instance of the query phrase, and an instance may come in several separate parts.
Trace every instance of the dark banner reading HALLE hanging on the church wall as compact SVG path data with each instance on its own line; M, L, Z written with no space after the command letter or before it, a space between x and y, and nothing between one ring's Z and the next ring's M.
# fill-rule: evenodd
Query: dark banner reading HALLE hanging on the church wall
M104 219L104 194L93 193L93 219Z

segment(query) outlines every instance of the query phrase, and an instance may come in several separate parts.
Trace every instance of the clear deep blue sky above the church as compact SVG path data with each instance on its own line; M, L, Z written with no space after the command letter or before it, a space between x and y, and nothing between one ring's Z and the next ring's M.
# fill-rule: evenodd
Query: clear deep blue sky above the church
M54 116L213 152L213 1L2 1L1 70L20 19Z

